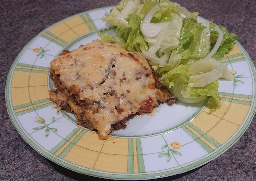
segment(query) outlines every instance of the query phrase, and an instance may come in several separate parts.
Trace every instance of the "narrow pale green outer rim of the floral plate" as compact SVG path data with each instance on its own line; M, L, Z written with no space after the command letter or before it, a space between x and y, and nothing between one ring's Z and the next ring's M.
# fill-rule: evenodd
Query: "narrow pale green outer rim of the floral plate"
M42 148L40 148L40 146L36 145L23 131L22 129L19 127L13 112L11 111L11 104L10 104L10 96L9 96L9 89L10 89L10 80L12 78L13 75L13 71L14 68L16 67L16 64L18 62L19 57L21 56L21 54L26 50L26 48L30 45L31 42L33 42L33 40L35 40L38 36L40 36L40 34L42 34L44 31L46 31L47 29L55 26L56 24L70 19L72 17L78 16L80 14L84 14L84 13L88 13L88 12L92 12L92 11L97 11L97 10L101 10L101 9L106 9L106 8L111 8L111 7L115 7L115 6L106 6L106 7L100 7L97 9L92 9L89 11L85 11L85 12L81 12L72 16L69 16L67 18L64 18L54 24L52 24L51 26L45 28L44 30L42 30L40 33L38 33L35 37L33 37L23 48L22 50L19 52L19 54L16 56L15 60L12 63L12 66L10 67L10 70L8 72L7 75L7 79L6 79L6 84L5 84L5 104L6 104L6 108L7 108L7 112L9 114L9 117L12 121L12 124L14 125L15 129L17 130L17 132L20 134L20 136L22 137L22 139L24 139L24 141L26 143L28 143L29 146L31 146L35 151L37 151L38 153L40 153L43 157L45 157L46 159L49 159L50 161L66 168L66 169L70 169L72 171L81 173L81 174L86 174L89 176L94 176L94 177L100 177L100 178L107 178L107 179L121 179L121 180L145 180L145 179L155 179L155 178L162 178L162 177L168 177L168 176L172 176L172 175L176 175L176 174L181 174L183 172L195 169L197 167L200 167L201 165L204 165L210 161L212 161L213 159L219 157L221 154L223 154L225 151L227 151L232 145L234 145L238 139L243 135L243 133L246 131L246 129L249 127L250 123L252 122L253 116L255 115L256 112L256 99L253 100L252 102L252 107L251 107L251 112L247 115L247 119L245 121L243 121L243 125L241 125L241 129L235 133L235 135L233 135L232 138L230 138L225 145L223 145L223 147L221 147L219 150L217 150L216 152L208 155L205 158L202 158L200 160L198 160L195 163L186 165L184 167L181 168L177 168L174 170L165 170L163 172L158 172L158 173L141 173L141 174L115 174L115 173L110 173L110 172L104 172L104 171L91 171L91 170L87 170L87 169L82 169L82 168L78 168L76 166L74 166L74 164L67 164L62 160L56 159L54 156L50 155L49 153L47 153L46 151L44 151ZM205 18L203 18L205 19ZM238 45L238 47L241 49L241 51L244 53L246 59L248 60L248 64L250 66L250 68L252 69L252 74L253 74L253 80L254 80L254 85L256 85L256 70L255 70L255 66L252 62L251 57L249 56L249 54L246 52L246 50L241 46L241 44L239 42L236 41L236 44ZM254 88L254 95L256 95L256 88ZM254 97L255 98L255 97Z

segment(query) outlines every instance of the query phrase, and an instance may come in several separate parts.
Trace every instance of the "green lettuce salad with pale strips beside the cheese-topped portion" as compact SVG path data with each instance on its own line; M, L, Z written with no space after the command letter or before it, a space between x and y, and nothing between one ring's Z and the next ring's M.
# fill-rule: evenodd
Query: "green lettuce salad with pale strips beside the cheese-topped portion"
M208 99L212 112L221 107L218 79L234 78L217 60L239 37L212 21L199 23L197 16L169 0L121 0L102 18L116 27L116 35L99 36L148 59L161 83L179 100Z

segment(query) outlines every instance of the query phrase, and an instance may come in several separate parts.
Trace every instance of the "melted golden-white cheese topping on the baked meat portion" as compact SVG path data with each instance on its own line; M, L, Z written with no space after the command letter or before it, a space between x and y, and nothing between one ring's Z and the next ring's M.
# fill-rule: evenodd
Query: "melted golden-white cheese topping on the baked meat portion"
M147 60L119 44L93 40L58 56L51 69L60 75L62 85L90 101L87 118L101 139L107 138L112 124L135 114L145 100L152 98L155 105L160 94Z

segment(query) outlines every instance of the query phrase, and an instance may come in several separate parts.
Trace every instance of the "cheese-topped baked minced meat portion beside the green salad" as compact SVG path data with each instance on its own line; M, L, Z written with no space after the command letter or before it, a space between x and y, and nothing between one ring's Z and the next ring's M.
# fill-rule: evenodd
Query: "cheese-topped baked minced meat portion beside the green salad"
M56 87L49 91L50 99L59 109L74 112L78 125L96 129L100 139L125 128L130 115L177 101L147 59L119 44L93 40L71 52L64 50L51 61L50 72Z

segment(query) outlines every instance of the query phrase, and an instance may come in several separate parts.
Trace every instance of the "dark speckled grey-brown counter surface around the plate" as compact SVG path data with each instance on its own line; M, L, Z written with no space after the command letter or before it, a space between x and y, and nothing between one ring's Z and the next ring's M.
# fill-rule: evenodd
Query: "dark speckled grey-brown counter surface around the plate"
M238 34L256 65L256 1L177 1ZM7 73L21 49L40 31L71 15L117 0L2 0L0 4L0 180L103 180L67 170L42 157L18 134L5 106ZM159 180L256 180L256 117L228 151L184 174Z

